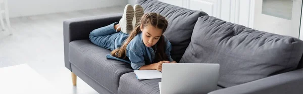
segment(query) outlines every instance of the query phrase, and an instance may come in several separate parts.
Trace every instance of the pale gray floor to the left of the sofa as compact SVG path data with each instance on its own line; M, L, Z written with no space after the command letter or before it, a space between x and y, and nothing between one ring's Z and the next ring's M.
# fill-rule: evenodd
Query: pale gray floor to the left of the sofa
M99 8L11 18L13 35L9 35L8 30L1 31L0 28L0 68L27 64L49 83L61 88L64 93L97 93L80 78L77 79L77 86L72 85L71 72L64 66L63 21L122 13L123 8Z

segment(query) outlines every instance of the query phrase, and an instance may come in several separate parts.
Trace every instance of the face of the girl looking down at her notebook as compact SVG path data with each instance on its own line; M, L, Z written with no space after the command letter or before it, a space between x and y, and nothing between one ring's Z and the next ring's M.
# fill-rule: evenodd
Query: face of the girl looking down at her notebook
M147 25L144 28L141 25L140 29L142 31L143 43L147 47L151 47L151 46L155 45L159 41L159 39L162 35L162 29L156 28L152 25Z

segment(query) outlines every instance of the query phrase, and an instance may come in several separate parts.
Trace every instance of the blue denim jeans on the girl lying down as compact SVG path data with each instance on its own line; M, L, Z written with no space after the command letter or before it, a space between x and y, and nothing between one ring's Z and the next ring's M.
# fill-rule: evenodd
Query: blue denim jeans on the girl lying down
M105 27L94 29L89 34L89 40L105 49L111 51L120 48L122 42L128 37L128 34L116 32L114 26L117 22Z

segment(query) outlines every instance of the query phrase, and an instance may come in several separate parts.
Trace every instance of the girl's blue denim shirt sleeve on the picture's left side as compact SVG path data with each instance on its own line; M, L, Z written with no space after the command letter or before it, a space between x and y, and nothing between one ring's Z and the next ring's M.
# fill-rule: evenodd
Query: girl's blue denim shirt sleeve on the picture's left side
M131 62L130 65L134 70L139 70L143 65L145 65L143 52L140 49L129 44L126 51L126 56L129 58L129 61Z

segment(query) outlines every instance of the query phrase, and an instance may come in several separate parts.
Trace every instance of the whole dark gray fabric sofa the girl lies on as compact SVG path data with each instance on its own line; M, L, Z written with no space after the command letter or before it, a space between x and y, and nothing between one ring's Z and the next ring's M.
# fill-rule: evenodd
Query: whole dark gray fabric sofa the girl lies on
M175 61L220 64L217 90L210 93L303 93L303 41L159 1L138 0L137 4L145 13L156 12L167 18L164 35L172 44ZM113 14L65 20L65 66L99 93L160 93L161 79L136 79L130 64L106 59L111 51L88 40L93 29L118 22L121 17Z

